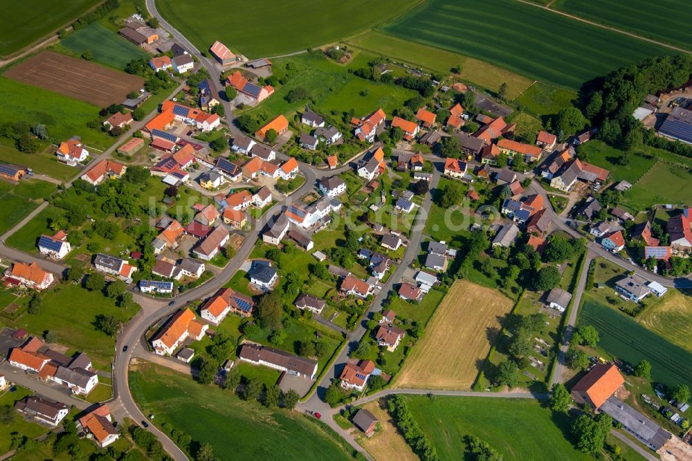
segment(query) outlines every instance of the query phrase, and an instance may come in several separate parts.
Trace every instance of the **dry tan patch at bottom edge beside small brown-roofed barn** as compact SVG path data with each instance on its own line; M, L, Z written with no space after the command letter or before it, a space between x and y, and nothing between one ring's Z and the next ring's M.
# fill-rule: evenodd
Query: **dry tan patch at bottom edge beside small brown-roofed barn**
M397 433L387 410L380 408L379 401L371 401L365 405L366 410L380 420L381 430L370 438L358 438L358 443L367 450L376 461L417 461L419 458L406 444L403 437Z

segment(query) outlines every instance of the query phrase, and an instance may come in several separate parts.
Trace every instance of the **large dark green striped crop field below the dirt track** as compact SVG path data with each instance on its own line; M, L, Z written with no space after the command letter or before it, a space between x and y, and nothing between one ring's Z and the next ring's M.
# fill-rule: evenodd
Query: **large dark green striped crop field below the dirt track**
M570 90L621 66L673 54L514 0L493 1L493 8L483 0L431 0L383 30Z

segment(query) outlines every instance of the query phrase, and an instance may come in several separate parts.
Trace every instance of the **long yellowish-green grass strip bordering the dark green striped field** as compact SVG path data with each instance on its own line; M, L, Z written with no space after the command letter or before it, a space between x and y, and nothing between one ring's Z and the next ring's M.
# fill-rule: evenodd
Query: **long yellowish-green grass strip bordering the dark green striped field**
M408 39L394 37L376 30L370 30L353 37L347 42L356 48L392 57L394 60L416 64L443 75L448 75L452 67L461 66L462 72L459 74L459 78L468 80L480 87L498 91L502 83L507 83L507 96L509 98L514 98L531 84L531 79L507 69L493 66L489 62L452 53L435 46L411 42Z

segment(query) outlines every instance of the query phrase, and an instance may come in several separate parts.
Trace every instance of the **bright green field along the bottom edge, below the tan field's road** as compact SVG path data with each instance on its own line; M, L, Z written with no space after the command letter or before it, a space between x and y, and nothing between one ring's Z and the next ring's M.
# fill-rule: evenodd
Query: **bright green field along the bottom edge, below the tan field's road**
M480 437L506 460L592 459L567 440L567 415L554 416L534 399L417 396L406 401L442 460L462 458L466 435Z

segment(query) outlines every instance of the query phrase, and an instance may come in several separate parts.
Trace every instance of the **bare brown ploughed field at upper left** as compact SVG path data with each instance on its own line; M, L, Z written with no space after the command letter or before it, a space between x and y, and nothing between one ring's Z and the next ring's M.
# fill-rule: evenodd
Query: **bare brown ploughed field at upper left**
M127 93L139 91L144 84L144 79L137 75L53 51L31 57L4 75L99 107L120 104Z

